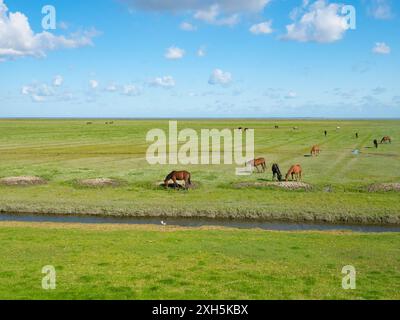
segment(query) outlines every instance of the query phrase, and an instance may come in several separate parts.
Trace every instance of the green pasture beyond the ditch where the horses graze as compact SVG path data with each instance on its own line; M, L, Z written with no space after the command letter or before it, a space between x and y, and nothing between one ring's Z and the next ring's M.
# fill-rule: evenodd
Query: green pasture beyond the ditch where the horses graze
M3 212L185 215L292 220L400 223L396 192L367 192L372 183L400 182L400 121L196 120L179 129L255 129L256 156L268 162L265 174L235 175L236 165L157 165L145 160L148 130L167 131L168 121L0 120L0 178L39 176L47 185L0 186ZM279 129L274 129L279 125ZM299 130L293 130L293 126ZM336 127L341 129L336 131ZM328 137L323 131L328 130ZM359 139L355 138L358 132ZM390 135L391 145L372 147ZM319 144L321 156L305 157ZM353 149L360 155L354 156ZM238 189L239 182L271 180L270 166L285 171L300 163L312 191ZM186 191L156 186L173 169L192 172L199 186ZM115 178L119 187L87 188L76 181ZM329 190L330 192L327 192Z

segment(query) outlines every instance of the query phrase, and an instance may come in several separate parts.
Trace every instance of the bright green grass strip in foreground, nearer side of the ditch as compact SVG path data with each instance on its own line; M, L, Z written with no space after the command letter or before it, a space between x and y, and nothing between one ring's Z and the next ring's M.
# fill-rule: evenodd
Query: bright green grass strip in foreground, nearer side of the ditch
M0 299L399 299L399 234L0 223ZM42 290L53 265L57 289ZM357 289L341 288L342 267Z

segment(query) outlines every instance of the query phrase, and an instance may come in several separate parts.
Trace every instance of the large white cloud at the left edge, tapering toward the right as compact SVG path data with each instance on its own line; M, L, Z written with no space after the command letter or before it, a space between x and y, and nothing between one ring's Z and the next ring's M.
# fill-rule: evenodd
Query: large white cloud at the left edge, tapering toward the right
M61 48L78 48L92 45L95 30L55 36L50 32L35 33L28 18L21 12L9 12L0 0L0 61L33 56L45 57L47 51Z

